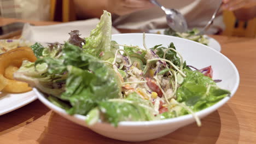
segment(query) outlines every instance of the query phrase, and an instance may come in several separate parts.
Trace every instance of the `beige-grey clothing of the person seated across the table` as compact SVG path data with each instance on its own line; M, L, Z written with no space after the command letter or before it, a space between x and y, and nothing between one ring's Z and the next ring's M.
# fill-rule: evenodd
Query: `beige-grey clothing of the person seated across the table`
M189 28L202 28L211 19L214 10L221 0L159 0L166 8L178 9L188 22ZM135 13L120 16L113 20L113 25L118 28L127 29L156 29L166 28L165 13L159 7L137 11ZM223 28L221 17L217 17L212 26ZM213 32L214 33L214 32Z

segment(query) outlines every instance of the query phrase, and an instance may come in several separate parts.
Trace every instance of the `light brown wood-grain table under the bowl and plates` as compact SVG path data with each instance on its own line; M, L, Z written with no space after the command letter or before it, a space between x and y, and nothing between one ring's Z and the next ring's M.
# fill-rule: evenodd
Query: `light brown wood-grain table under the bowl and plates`
M18 20L0 18L0 25L14 21ZM160 139L138 143L256 143L256 39L211 37L219 41L222 53L234 62L240 73L240 86L234 97L203 118L202 127L190 124ZM0 116L0 125L0 143L129 143L80 127L49 110L39 100Z

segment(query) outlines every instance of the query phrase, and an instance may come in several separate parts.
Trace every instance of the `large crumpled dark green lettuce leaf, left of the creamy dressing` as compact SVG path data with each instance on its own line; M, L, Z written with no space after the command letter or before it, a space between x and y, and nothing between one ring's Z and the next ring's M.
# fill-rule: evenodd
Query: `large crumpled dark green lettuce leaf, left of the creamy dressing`
M67 111L71 115L86 115L101 101L119 98L120 86L114 71L101 62L92 62L91 58L88 60L91 61L88 70L71 65L67 67L66 91L61 99L71 103L72 108Z

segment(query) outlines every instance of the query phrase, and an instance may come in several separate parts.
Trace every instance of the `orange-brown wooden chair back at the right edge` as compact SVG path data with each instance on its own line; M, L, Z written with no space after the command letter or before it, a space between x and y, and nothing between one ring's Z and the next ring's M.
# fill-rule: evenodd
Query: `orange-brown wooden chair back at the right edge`
M256 38L256 17L249 21L237 20L232 11L223 11L225 30L223 35Z

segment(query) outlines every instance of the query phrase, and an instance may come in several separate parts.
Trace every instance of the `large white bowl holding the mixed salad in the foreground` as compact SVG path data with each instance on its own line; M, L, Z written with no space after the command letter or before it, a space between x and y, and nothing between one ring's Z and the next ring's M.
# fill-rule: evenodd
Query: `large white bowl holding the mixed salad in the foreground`
M139 47L143 47L143 35L141 33L114 34L112 40L117 41L117 43L121 45L138 45ZM197 68L205 68L212 65L213 79L222 80L222 82L217 83L217 85L220 88L228 89L231 92L229 97L225 97L207 109L196 112L196 115L199 118L203 118L213 111L216 111L220 106L224 105L232 95L234 95L239 84L238 71L235 65L227 57L208 46L168 35L146 34L146 45L148 48L159 44L167 47L171 42L174 43L177 51L182 54L188 65L193 65ZM68 115L65 110L50 103L50 101L45 98L44 94L39 92L36 88L33 88L33 91L38 95L38 99L54 112L59 113L59 115L74 123L89 127L85 123L86 116ZM185 115L159 121L120 122L118 127L113 127L113 125L108 123L98 122L89 128L98 134L112 139L123 141L146 141L172 133L174 130L193 122L195 122L195 119L192 115Z

